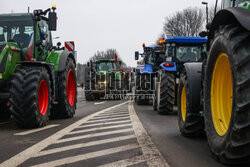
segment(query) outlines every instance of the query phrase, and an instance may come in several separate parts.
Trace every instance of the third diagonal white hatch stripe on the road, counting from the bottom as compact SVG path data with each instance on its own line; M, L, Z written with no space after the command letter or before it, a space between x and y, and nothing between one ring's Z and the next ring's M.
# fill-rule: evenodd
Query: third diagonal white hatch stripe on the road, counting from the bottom
M99 145L99 144L108 144L108 143L113 143L113 142L117 142L117 141L133 139L133 138L135 138L135 135L127 135L127 136L121 136L121 137L116 137L116 138L111 138L111 139L103 139L103 140L91 141L91 142L87 142L87 143L75 144L75 145L70 145L70 146L65 146L65 147L53 148L50 150L41 151L37 155L35 155L34 157L44 156L44 155L58 153L58 152L67 151L67 150L73 150L73 149L77 149L77 148L95 146L95 145Z

